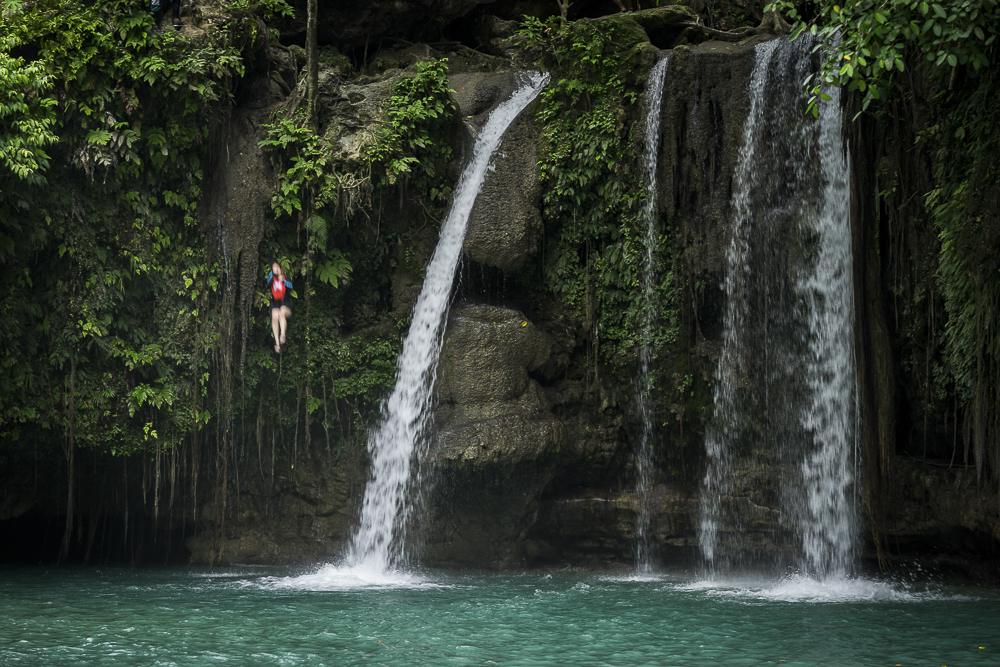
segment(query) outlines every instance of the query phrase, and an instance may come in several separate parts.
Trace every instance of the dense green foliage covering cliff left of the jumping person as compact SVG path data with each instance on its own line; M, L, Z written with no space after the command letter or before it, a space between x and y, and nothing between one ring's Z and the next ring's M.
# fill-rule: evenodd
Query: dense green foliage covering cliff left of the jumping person
M257 17L199 40L152 25L126 0L3 2L5 444L57 443L72 424L78 446L127 454L210 418L220 268L195 208Z

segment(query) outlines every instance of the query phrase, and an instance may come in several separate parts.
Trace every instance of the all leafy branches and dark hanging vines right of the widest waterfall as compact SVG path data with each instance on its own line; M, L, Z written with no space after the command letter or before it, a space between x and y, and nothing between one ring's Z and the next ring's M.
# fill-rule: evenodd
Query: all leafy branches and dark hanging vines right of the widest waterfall
M898 324L900 376L918 406L895 449L1000 479L1000 91L995 0L779 0L792 38L811 33L822 65L810 108L833 85L857 100L850 124L883 137L879 243ZM862 117L864 116L864 117ZM951 436L950 438L948 436ZM883 447L891 447L883 443ZM885 457L894 451L881 452ZM1000 498L1000 495L998 495Z

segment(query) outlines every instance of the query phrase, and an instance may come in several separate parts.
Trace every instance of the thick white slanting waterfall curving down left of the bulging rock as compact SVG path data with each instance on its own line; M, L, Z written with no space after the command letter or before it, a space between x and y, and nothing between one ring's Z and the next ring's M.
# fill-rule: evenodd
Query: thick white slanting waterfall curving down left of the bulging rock
M415 481L411 480L411 464L426 449L424 428L469 213L503 133L538 96L549 75L527 73L523 77L522 86L494 109L479 133L427 265L410 331L396 362L396 386L382 407L380 426L368 439L372 477L365 488L361 524L347 557L354 568L380 573L405 561L404 533L411 507L407 494Z

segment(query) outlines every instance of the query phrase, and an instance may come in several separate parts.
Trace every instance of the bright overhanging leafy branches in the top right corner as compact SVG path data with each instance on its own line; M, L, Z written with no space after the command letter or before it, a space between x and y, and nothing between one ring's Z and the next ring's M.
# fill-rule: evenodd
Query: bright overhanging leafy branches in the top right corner
M808 31L818 37L817 48L826 48L817 80L807 81L814 114L824 85L859 91L863 109L884 99L894 76L906 70L911 52L934 67L979 71L994 62L1000 31L997 0L840 2L777 0L768 6L796 21L793 38ZM811 13L815 17L806 20Z

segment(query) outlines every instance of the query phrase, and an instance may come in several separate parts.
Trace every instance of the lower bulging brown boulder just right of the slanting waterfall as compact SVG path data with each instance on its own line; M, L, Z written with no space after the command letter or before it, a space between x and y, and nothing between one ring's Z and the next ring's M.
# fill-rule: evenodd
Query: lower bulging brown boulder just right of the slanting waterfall
M453 310L435 385L438 481L424 557L502 568L528 557L525 534L551 481L565 429L529 377L551 343L515 310Z

